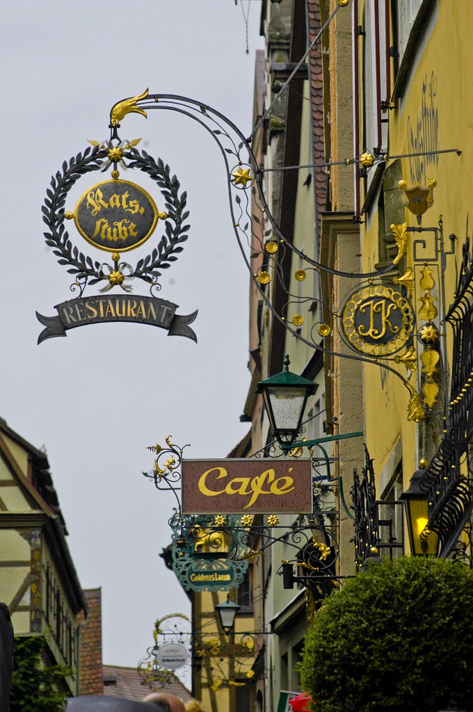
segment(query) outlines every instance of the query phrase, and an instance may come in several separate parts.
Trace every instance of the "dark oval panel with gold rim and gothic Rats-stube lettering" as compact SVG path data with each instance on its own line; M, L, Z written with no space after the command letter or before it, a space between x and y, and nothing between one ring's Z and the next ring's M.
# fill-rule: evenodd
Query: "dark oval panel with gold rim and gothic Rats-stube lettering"
M155 201L135 183L107 180L80 197L74 222L91 245L108 252L126 252L143 244L159 217Z

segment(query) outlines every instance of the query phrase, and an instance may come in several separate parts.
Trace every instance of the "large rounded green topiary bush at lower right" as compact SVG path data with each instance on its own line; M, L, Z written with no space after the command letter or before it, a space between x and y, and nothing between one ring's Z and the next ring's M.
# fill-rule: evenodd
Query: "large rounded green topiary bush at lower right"
M315 712L473 712L472 572L371 565L316 614L298 671Z

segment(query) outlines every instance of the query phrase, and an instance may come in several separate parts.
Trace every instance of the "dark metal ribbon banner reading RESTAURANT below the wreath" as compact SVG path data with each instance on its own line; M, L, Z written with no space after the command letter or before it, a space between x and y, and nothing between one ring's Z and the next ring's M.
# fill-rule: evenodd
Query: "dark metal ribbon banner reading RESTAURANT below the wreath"
M67 336L66 331L87 324L101 324L109 321L128 321L150 324L167 330L168 336L187 336L197 341L197 336L189 327L197 316L197 311L187 316L177 315L177 304L156 297L137 297L119 294L115 296L93 296L71 299L55 306L58 316L43 316L36 312L44 329L38 336L38 344L54 336Z

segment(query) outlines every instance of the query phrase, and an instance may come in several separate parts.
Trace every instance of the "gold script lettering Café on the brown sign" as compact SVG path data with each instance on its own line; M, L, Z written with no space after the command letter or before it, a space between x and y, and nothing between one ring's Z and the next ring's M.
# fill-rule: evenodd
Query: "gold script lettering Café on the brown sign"
M291 471L292 468L289 468ZM294 481L292 477L284 476L276 479L274 474L274 469L264 471L261 475L256 475L253 478L249 477L234 477L232 480L227 482L227 486L224 489L217 489L218 486L222 486L219 483L217 485L217 480L227 477L228 473L224 467L212 467L212 469L207 470L199 479L199 491L202 492L206 497L216 497L219 494L229 494L229 495L239 495L241 497L251 496L250 501L243 507L247 509L254 505L256 500L260 495L273 494L273 495L283 495L292 492L294 489ZM264 489L265 485L268 485ZM212 486L216 487L211 489Z

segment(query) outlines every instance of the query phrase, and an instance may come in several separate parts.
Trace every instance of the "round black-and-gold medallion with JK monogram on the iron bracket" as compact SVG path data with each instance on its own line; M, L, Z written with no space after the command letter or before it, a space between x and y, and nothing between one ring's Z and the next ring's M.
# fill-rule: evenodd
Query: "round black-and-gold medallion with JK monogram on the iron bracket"
M399 291L383 284L368 284L349 295L341 324L350 347L378 358L407 345L412 338L414 313Z

